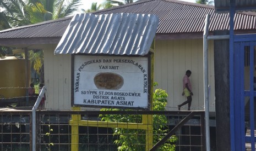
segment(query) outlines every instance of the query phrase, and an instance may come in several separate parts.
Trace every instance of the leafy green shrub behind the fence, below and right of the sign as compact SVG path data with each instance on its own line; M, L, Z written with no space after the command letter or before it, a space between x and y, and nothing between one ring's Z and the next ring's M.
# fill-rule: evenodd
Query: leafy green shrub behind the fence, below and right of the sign
M153 94L153 111L165 111L167 104L167 93L165 90L156 89ZM131 109L104 108L101 111L133 111ZM100 115L102 121L116 121L124 123L141 123L142 115ZM167 118L165 115L153 115L153 143L160 141L167 133ZM145 130L118 129L113 128L116 138L114 143L118 150L145 150ZM172 136L158 150L175 150L176 136Z

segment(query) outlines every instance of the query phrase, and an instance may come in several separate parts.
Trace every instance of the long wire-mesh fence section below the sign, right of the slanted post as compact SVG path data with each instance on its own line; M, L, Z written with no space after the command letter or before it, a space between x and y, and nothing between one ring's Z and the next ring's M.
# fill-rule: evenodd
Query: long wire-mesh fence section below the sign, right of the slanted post
M37 149L70 150L72 144L74 144L71 135L72 129L69 124L72 115L81 115L81 119L85 123L99 121L98 125L97 123L90 126L80 125L79 132L73 133L79 136L78 150L118 150L118 148L123 147L121 142L125 139L127 140L125 142L127 143L126 146L130 149L141 150L141 148L145 148L148 145L143 140L146 136L145 131L128 130L128 128L118 131L123 129L122 119L119 120L120 127L122 128L113 128L113 123L106 123L105 126L102 126L101 119L99 118L100 114L118 115L118 117L127 117L129 115L164 115L167 118L166 127L164 128L166 132L152 133L152 137L156 138L152 146L155 147L156 144L157 146L151 148L151 150L158 149L163 144L166 145L166 143L175 145L176 150L205 150L204 112L202 111L38 111L36 118L38 123ZM80 122L77 122L79 125ZM72 123L74 124L74 122ZM171 132L171 135L168 132ZM174 143L167 142L168 138L173 137L173 135L178 140ZM129 140L129 137L134 140Z

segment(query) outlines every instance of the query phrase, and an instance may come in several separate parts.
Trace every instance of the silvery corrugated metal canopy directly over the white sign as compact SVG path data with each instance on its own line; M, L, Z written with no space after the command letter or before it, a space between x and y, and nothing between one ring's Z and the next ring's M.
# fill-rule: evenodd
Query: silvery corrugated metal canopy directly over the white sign
M159 19L146 14L77 14L55 54L146 55Z

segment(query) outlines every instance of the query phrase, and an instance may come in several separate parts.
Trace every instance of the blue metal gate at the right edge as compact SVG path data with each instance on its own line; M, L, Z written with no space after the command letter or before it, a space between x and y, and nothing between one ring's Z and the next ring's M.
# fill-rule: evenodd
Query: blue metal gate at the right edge
M255 150L255 105L256 101L256 35L234 35L234 115L235 150ZM231 114L232 116L232 114ZM232 124L232 123L231 123Z

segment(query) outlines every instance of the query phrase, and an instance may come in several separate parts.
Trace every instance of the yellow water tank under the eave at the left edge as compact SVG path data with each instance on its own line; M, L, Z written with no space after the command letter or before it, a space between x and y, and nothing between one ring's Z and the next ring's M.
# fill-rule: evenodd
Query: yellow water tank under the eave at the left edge
M0 57L0 98L25 98L26 80L30 80L30 61L26 73L26 60L15 56Z

